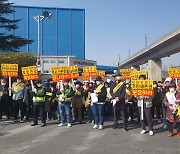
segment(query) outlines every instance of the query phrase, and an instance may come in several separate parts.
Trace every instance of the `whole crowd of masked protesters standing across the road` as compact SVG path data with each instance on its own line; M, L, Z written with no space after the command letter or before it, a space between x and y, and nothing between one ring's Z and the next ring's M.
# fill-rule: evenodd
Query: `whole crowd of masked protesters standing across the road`
M139 79L145 80L146 76L140 75ZM162 129L168 130L169 137L177 129L180 138L180 82L168 77L163 82L154 81L153 87L153 97L132 96L131 82L121 80L119 73L114 79L97 77L91 81L58 83L37 80L34 85L18 77L12 88L2 78L0 120L7 118L12 123L32 120L31 126L36 126L40 116L41 127L47 121L58 120L59 127L86 122L99 130L104 129L104 121L112 121L113 129L122 126L125 132L130 130L129 125L140 124L140 133L145 134L148 126L150 136L154 135L153 125L157 121L162 123Z

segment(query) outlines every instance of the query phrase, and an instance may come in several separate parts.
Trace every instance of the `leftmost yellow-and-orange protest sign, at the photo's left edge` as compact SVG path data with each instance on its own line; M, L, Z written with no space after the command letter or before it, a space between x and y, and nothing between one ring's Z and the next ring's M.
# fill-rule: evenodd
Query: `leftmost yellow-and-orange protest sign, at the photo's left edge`
M1 76L17 77L18 76L18 64L1 64Z

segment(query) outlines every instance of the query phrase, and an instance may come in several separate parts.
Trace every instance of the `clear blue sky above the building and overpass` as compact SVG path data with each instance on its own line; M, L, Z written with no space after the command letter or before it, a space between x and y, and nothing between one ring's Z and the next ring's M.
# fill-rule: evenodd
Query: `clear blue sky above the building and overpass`
M15 5L85 9L86 59L116 66L180 26L180 0L9 0ZM180 53L163 68L180 66Z

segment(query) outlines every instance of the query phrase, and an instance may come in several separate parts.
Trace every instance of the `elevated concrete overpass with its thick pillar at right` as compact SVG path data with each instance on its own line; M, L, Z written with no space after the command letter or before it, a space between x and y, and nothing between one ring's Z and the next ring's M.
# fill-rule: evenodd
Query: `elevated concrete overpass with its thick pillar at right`
M138 70L140 65L148 63L149 79L158 81L162 79L161 58L178 52L180 52L180 27L120 63L120 68L134 67Z

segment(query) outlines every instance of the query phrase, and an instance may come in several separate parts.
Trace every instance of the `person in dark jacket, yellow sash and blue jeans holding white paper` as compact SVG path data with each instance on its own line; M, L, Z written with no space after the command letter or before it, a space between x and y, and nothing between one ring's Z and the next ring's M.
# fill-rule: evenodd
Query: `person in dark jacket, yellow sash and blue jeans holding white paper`
M92 98L91 94L91 99L93 103L93 114L95 120L95 125L93 129L102 130L104 125L104 104L107 91L100 76L96 78L96 85L94 85L93 87L93 92L94 98Z

